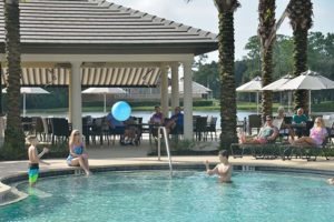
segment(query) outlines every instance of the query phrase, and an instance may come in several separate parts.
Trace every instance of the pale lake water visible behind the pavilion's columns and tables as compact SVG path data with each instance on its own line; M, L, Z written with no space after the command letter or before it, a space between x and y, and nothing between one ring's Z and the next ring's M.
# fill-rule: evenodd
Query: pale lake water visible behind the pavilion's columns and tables
M245 117L248 117L248 114L254 114L254 113L255 112L238 110L237 117L238 117L238 120L244 120ZM104 117L106 114L107 113L104 113L104 112L82 112L82 117L91 115L92 118L99 118L99 117ZM150 112L150 111L134 111L131 113L131 115L134 115L134 117L143 117L143 122L148 122L151 114L153 114L153 112ZM194 115L217 117L218 118L217 119L217 128L220 128L220 114L218 111L194 111ZM68 118L68 112L58 112L55 114L42 113L42 112L29 112L29 113L27 113L27 117ZM169 117L170 117L170 112L169 112Z

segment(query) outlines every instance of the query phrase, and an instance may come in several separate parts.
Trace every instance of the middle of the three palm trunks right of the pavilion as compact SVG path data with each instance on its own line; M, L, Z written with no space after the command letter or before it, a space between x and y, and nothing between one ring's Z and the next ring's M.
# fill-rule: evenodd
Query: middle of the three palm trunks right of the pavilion
M275 27L275 0L259 0L258 1L258 18L259 24L257 33L262 47L262 85L269 84L273 80L273 29ZM272 91L263 91L262 93L262 119L271 115L273 110L273 94Z

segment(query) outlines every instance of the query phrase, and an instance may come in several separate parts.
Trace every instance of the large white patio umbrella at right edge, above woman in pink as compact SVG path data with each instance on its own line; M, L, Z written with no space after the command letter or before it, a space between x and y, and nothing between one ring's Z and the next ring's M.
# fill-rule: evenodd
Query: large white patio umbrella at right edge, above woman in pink
M281 90L308 90L308 110L311 113L311 90L334 89L334 81L317 72L307 70L281 87Z

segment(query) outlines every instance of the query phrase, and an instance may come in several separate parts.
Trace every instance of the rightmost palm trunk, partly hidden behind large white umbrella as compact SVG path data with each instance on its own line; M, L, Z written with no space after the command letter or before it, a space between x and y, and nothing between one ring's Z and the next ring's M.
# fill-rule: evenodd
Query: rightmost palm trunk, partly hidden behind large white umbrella
M287 16L293 28L294 40L294 72L297 77L307 70L307 32L313 21L313 4L311 0L291 0L287 6ZM306 90L297 90L294 94L296 108L303 108L308 113L308 94Z

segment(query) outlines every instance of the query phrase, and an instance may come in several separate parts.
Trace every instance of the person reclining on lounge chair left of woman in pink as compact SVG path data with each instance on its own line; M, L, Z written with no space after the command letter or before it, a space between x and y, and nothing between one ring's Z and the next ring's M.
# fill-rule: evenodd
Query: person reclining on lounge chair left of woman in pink
M266 123L261 128L258 134L255 138L246 139L240 138L240 143L243 144L265 144L271 143L278 137L278 129L273 125L273 118L271 115L266 117Z

